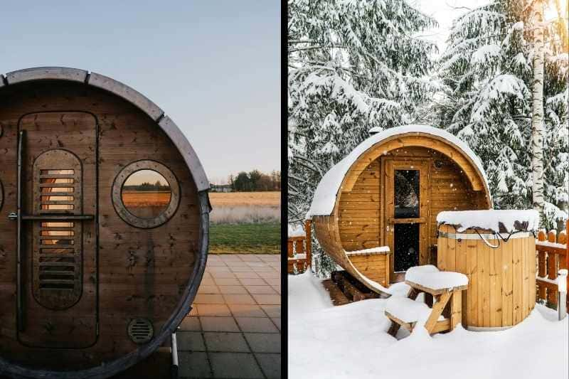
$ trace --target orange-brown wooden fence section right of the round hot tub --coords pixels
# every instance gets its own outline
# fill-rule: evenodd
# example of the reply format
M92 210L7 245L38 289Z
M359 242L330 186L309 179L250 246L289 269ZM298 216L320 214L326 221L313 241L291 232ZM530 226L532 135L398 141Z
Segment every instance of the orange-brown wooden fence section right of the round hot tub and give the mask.
M567 229L569 229L569 221ZM545 300L550 306L555 307L558 303L558 271L569 268L569 244L566 230L560 232L559 235L555 230L550 230L547 234L542 230L538 233L536 241L536 301ZM569 308L569 301L566 306Z

